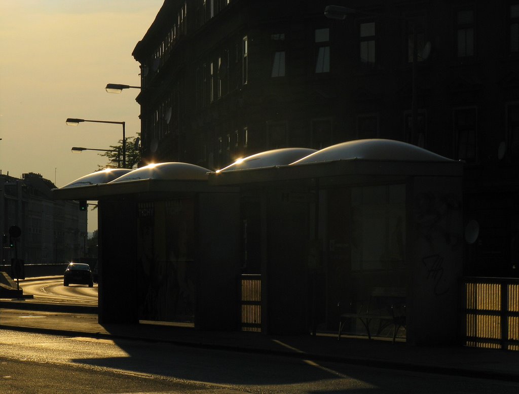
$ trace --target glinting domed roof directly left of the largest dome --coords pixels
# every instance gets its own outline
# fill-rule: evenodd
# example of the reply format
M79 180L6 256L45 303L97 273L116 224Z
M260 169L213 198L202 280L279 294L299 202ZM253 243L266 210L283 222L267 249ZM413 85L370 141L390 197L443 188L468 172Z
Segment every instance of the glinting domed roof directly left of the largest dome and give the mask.
M267 150L265 152L252 154L244 159L238 159L233 164L229 164L227 167L216 172L288 165L293 163L295 160L306 157L314 152L317 152L317 150L310 148L281 148Z

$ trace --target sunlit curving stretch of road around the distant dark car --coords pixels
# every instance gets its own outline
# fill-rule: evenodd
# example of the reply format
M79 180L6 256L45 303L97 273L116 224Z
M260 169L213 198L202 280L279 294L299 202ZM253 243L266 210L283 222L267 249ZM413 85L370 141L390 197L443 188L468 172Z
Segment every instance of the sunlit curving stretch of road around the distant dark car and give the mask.
M76 305L97 306L98 286L86 285L63 286L63 277L49 276L24 279L20 281L23 294L32 294L35 301L69 303Z

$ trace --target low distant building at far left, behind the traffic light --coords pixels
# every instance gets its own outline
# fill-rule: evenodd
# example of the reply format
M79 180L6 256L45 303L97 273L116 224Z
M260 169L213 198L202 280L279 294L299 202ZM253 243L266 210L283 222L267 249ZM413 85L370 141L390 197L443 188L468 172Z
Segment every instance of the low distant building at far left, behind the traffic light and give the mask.
M17 254L26 264L63 263L85 255L87 213L76 201L52 200L53 188L39 174L22 179L0 174L0 231L8 240L9 228L20 227ZM10 264L14 249L2 248L0 257L2 264Z

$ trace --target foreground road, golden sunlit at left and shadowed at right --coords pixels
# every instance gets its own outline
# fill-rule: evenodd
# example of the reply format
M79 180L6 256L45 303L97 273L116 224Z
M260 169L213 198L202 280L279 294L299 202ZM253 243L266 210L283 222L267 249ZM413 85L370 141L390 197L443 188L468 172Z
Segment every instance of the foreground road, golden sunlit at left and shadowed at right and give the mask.
M519 384L149 343L0 330L0 392L514 393Z

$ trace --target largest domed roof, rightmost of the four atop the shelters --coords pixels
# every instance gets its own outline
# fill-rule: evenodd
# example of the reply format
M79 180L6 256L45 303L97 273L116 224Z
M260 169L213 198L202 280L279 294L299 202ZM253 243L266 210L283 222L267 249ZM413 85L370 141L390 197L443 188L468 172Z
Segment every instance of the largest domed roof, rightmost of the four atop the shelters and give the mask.
M337 160L453 161L416 145L392 139L357 139L318 150L291 165Z

